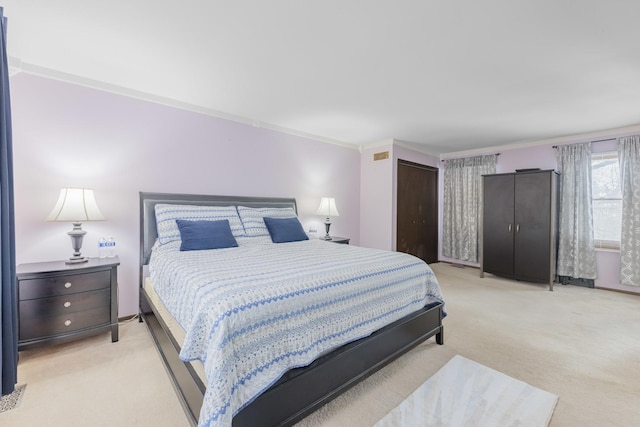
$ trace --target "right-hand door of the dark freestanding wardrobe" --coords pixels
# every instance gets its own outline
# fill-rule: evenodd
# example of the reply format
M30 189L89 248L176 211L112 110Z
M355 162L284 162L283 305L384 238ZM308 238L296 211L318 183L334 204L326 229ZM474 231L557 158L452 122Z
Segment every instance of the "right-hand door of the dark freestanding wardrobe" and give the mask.
M525 280L549 280L552 173L515 175L514 274Z

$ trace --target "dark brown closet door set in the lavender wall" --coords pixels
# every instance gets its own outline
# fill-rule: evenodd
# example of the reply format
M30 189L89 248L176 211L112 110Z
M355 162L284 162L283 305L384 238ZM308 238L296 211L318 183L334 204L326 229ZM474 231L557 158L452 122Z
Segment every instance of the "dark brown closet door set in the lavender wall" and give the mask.
M396 249L438 262L438 169L398 160Z

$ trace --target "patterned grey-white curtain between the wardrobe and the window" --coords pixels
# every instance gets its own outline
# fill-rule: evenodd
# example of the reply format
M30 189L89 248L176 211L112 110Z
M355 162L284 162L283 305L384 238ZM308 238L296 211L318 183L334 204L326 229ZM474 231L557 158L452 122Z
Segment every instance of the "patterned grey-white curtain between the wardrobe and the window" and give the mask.
M591 204L591 143L558 147L560 172L559 276L596 278Z

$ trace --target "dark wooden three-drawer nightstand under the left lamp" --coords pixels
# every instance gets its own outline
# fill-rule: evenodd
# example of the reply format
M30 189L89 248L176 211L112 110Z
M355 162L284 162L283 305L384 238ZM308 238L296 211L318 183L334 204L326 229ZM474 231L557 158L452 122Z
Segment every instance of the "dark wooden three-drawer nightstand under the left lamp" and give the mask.
M18 265L18 350L108 330L118 341L118 265L118 257Z

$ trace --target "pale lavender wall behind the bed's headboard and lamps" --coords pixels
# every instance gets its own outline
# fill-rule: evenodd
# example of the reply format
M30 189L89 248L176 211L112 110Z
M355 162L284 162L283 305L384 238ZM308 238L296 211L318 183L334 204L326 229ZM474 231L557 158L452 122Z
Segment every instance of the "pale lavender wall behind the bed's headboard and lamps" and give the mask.
M336 198L332 234L360 234L360 153L86 87L11 78L18 263L71 255L69 223L44 219L61 187L90 187L107 218L88 222L82 253L112 235L120 256L119 315L137 312L139 191L293 196L306 229L322 196Z

